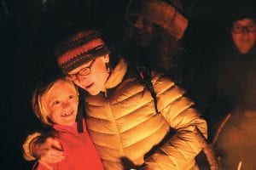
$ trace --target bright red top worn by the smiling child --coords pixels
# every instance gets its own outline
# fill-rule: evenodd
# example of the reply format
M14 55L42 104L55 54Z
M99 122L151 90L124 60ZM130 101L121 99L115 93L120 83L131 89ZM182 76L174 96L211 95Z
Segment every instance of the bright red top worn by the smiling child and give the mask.
M104 169L102 161L85 128L85 122L84 133L78 133L77 123L74 123L71 126L54 125L53 127L56 130L57 137L60 140L65 156L62 161L51 164L54 170ZM34 169L44 170L47 168L37 162Z

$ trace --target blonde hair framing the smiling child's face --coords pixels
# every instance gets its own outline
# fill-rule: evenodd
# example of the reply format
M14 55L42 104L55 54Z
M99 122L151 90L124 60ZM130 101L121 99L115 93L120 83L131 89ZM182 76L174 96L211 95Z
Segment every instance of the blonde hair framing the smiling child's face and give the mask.
M79 98L79 93L73 82L67 80L66 78L56 78L54 81L49 82L47 84L39 84L35 89L32 95L32 109L36 116L43 122L45 125L52 126L53 122L49 119L49 111L47 106L45 105L45 98L51 92L56 82L65 82L69 88L71 88L74 94L77 94Z

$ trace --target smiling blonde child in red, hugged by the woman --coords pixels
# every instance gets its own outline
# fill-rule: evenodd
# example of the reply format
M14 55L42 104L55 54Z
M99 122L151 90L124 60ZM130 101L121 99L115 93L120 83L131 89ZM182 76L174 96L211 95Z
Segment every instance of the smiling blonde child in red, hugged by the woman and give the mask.
M90 140L83 121L84 133L78 133L76 116L78 114L79 94L73 82L64 78L55 79L47 85L40 85L32 97L32 107L38 118L53 128L49 134L57 136L64 150L65 158L52 163L52 169L95 169L102 170L102 162ZM34 169L44 170L38 161Z

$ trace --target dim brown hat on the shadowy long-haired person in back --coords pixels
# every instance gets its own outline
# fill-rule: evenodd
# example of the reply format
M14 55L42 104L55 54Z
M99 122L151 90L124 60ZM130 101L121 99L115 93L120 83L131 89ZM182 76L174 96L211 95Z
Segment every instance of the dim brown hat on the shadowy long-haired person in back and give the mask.
M129 15L142 15L145 19L165 28L177 40L183 37L189 21L171 4L161 0L134 0Z

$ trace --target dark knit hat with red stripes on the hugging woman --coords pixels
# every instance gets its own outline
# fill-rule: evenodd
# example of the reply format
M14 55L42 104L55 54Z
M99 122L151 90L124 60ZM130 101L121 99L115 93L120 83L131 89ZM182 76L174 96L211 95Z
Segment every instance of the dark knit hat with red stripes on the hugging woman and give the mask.
M109 54L109 50L98 31L79 31L61 42L55 50L58 64L64 74L80 65Z

